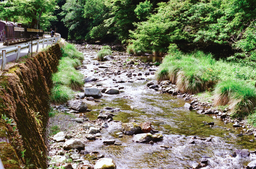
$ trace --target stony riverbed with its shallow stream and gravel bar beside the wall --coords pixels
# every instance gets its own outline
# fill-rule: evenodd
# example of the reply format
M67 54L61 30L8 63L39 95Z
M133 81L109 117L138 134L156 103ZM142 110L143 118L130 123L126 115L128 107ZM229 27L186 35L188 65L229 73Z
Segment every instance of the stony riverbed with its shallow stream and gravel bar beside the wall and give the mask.
M232 127L233 123L225 124L220 119L213 118L214 115L198 114L186 109L184 104L191 100L185 101L146 87L147 82L156 83L155 71L158 67L153 63L161 62L161 57L134 57L124 51L115 51L115 61L102 62L95 59L100 46L87 46L77 45L85 59L78 71L85 78L97 78L97 81L87 82L85 85L99 90L116 88L120 93L102 93L101 98L92 101L84 99L91 111L73 114L71 117L80 116L94 123L100 111L109 112L104 107L120 111L114 112L113 121L107 122L108 127L102 128L101 136L93 141L85 138L88 130L82 127L88 122L76 123L70 115L50 119L50 126L58 124L65 134L82 139L87 152L98 152L101 157L103 154L104 157L113 159L117 169L191 168L193 163L200 163L202 159L208 161L204 169L242 169L256 159L254 136L241 135L243 128ZM131 60L135 64L128 64ZM153 144L133 142L133 136L129 135L119 137L117 133L121 131L121 124L128 122L151 122L152 127L164 137ZM214 122L214 125L206 125L209 122ZM204 138L207 137L211 139L206 141ZM107 139L114 139L121 145L103 144ZM62 145L61 142L50 142L49 155L53 157L52 161L56 161L53 160L54 155L63 150ZM249 155L242 157L236 154L236 150L240 149L247 149L246 151L250 151ZM93 166L97 161L94 153L81 155L78 164Z

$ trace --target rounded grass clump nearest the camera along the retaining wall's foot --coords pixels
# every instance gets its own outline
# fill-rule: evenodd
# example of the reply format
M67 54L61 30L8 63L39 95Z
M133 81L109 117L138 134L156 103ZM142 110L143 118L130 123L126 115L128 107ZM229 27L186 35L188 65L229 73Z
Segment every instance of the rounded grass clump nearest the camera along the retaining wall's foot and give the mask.
M73 91L64 85L55 85L51 89L51 100L54 103L65 103L73 98Z

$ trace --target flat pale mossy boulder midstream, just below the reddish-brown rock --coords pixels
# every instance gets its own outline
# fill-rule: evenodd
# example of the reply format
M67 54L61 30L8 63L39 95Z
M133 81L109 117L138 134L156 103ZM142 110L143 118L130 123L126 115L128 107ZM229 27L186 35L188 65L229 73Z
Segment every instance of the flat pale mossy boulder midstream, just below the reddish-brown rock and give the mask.
M135 142L150 142L150 141L158 141L163 138L162 134L154 134L152 135L151 133L142 133L142 134L136 134L133 138L132 141Z

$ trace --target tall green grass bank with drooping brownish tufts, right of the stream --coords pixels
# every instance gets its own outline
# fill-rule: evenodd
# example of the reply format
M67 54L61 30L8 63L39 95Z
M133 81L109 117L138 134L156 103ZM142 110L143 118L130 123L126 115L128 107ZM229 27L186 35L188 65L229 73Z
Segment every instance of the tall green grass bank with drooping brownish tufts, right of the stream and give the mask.
M184 93L210 91L215 105L228 105L235 117L249 115L256 107L254 67L217 61L200 50L185 54L170 45L156 78L158 82L170 80Z

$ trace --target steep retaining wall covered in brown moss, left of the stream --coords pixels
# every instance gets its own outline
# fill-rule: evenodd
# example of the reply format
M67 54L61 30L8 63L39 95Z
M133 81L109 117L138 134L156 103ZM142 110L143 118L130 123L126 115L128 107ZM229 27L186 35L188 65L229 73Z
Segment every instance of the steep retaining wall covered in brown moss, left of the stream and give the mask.
M25 160L30 159L30 163L37 168L47 168L46 128L50 109L49 89L52 86L50 77L57 71L60 57L60 46L56 44L28 58L25 63L11 67L0 76L0 114L14 119L18 129L18 133L8 135L9 140L12 140L8 145L0 141L0 153L4 154L13 147L10 152L13 152L11 154L15 155L16 160L18 159L17 164L24 164ZM38 123L38 118L42 123ZM1 129L3 127L1 126ZM19 134L22 139L17 138ZM26 149L25 160L21 157L17 140L22 142ZM15 164L15 158L8 160L14 160L9 162ZM2 161L8 163L6 159ZM6 166L5 169L11 166Z

